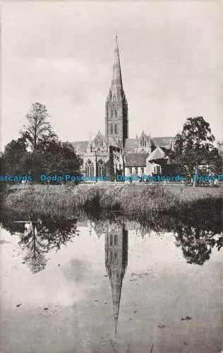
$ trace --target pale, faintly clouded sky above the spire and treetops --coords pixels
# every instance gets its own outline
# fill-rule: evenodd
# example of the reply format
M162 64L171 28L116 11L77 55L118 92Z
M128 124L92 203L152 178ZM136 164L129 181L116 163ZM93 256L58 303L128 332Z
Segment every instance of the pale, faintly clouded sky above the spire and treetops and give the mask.
M32 103L61 140L104 133L115 35L129 137L175 136L203 116L222 139L222 1L5 1L1 5L1 148Z

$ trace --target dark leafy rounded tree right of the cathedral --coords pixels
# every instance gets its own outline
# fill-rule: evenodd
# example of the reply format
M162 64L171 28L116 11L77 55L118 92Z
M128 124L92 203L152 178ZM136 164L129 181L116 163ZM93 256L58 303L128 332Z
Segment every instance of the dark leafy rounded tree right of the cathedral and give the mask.
M210 124L203 116L188 118L183 131L176 135L171 156L176 163L177 172L191 177L200 164L212 163L219 167L219 154L213 146L214 141Z

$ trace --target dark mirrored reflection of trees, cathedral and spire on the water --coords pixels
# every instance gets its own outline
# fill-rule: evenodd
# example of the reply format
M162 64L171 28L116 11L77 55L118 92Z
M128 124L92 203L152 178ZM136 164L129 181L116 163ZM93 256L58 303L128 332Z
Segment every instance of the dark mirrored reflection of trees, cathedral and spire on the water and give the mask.
M216 210L215 210L216 211ZM44 270L47 265L47 253L61 249L68 241L78 235L78 226L87 226L95 230L97 237L105 234L105 268L111 285L111 300L114 315L114 333L117 332L121 289L123 277L128 264L128 230L134 229L142 237L145 234L159 234L172 232L176 239L175 245L181 247L183 257L187 263L203 265L210 259L212 249L222 247L221 215L220 212L210 213L207 217L199 215L185 215L181 217L151 218L147 222L136 222L123 219L117 215L110 215L110 219L91 219L83 217L65 220L64 218L46 219L34 217L30 221L16 221L13 217L3 217L1 224L11 234L18 234L18 245L23 249L24 261L32 273Z

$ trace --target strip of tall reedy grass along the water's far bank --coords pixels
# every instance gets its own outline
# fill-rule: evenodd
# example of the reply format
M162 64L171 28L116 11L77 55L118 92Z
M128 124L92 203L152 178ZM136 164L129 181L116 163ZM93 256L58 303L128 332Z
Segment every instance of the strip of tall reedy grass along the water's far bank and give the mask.
M79 185L29 186L24 190L9 193L4 199L4 211L32 218L41 215L64 215L85 210L98 213L100 210L121 211L134 219L145 218L152 213L186 212L199 207L209 207L213 202L221 207L221 188L185 188L162 185Z

